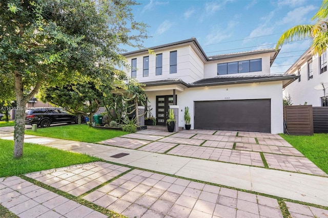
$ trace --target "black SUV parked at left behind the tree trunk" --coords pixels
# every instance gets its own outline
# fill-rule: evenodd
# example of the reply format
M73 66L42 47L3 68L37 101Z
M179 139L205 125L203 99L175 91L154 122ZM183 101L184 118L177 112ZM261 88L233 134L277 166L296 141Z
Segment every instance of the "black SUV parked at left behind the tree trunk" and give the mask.
M81 121L85 121L84 116L81 116ZM78 123L78 116L53 108L30 108L25 111L25 124L49 127L52 123Z

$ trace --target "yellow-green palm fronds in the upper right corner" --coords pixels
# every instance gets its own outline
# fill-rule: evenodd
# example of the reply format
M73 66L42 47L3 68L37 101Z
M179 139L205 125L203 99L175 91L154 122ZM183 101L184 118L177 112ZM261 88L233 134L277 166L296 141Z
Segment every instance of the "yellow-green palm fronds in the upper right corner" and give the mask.
M293 40L312 38L313 53L321 54L328 45L328 0L323 0L319 11L312 20L317 20L314 25L298 25L284 32L276 45L278 50L285 43Z

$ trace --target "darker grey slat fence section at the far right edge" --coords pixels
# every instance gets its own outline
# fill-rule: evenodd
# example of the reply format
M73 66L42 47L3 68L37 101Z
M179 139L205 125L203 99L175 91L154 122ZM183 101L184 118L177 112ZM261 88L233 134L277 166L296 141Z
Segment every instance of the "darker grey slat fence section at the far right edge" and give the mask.
M312 107L314 133L328 133L328 107Z

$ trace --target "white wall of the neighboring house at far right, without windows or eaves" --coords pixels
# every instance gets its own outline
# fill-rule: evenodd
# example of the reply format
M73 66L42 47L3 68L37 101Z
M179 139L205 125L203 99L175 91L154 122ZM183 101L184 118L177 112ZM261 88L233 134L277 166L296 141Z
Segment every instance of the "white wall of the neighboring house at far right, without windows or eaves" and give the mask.
M312 57L313 79L308 80L308 60L310 59L305 60L300 67L301 81L295 80L283 91L284 97L291 96L293 105L303 105L304 102L308 102L307 104L312 104L312 106L321 106L320 98L323 97L323 90L315 90L314 87L320 82L328 82L328 72L320 74L320 56L315 55ZM298 69L292 73L297 75Z

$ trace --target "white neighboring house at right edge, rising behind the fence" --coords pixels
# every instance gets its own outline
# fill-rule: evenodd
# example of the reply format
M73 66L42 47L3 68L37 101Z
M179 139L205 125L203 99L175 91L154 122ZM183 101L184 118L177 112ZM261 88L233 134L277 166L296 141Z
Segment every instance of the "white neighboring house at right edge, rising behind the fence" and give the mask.
M323 89L314 89L315 86L320 88L320 83L328 83L327 52L321 55L313 55L312 52L311 48L308 49L285 72L285 75L295 74L300 77L283 90L283 96L291 96L293 105L303 105L306 102L312 106L328 106L327 98L323 96ZM325 94L328 94L328 89Z

